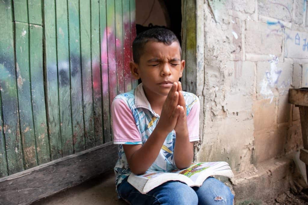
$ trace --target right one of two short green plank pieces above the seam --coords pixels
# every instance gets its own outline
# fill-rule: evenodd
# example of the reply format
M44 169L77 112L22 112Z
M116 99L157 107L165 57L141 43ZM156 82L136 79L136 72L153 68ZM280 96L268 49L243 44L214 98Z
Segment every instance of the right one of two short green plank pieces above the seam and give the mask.
M42 1L28 0L29 23L42 25Z

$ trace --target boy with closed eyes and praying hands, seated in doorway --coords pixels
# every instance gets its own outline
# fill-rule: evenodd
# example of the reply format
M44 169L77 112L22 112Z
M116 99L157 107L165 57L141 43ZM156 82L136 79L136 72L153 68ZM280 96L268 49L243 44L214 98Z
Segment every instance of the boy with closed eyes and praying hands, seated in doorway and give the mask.
M229 188L213 177L201 187L169 181L147 194L127 182L131 172L187 168L193 143L199 140L200 103L196 95L182 91L179 78L185 61L175 34L163 28L144 31L133 42L133 59L131 73L142 83L111 105L120 198L131 204L232 204Z

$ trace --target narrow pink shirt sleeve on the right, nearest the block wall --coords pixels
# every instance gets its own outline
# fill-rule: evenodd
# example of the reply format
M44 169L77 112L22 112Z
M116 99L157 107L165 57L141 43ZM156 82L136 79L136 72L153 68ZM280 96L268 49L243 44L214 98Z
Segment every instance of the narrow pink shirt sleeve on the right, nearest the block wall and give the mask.
M199 113L200 113L200 102L197 101L187 116L187 127L189 141L198 141L199 138Z

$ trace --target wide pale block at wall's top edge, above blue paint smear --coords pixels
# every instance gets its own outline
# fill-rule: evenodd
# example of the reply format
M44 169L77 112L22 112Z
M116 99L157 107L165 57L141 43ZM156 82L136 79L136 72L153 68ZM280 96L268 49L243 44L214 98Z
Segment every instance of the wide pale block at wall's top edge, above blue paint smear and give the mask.
M258 14L291 22L292 4L293 0L258 0Z

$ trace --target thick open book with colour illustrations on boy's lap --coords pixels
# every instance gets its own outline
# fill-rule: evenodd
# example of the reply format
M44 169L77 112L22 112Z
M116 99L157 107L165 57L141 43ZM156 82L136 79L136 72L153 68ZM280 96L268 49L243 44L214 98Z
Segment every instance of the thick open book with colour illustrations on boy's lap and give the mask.
M138 191L146 194L148 191L167 181L181 181L190 187L200 187L203 181L212 175L222 175L232 178L233 172L227 162L201 162L192 163L186 169L175 169L171 172L146 171L143 175L131 173L127 181Z

